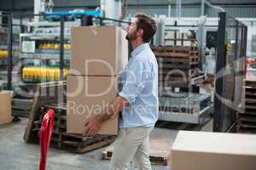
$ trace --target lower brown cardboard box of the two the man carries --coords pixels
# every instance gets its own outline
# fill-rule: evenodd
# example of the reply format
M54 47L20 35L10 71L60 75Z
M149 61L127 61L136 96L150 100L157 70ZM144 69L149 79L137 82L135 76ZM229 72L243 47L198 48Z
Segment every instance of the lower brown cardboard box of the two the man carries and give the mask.
M86 117L104 111L117 96L117 79L67 76L67 133L84 133ZM118 116L104 122L97 133L116 135Z

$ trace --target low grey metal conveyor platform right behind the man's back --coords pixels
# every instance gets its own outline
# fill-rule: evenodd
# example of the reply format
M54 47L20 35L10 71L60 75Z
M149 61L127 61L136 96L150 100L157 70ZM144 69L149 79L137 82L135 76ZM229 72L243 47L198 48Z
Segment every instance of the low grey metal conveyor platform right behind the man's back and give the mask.
M177 95L176 99L174 95ZM172 98L160 98L160 106L167 111L160 111L159 120L203 124L212 113L209 94L173 94Z

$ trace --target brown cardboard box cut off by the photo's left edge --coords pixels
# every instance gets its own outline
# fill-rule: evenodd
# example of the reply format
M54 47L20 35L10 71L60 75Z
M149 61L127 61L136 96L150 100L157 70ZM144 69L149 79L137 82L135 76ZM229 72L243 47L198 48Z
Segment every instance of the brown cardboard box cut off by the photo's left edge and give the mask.
M12 91L0 92L0 125L12 122Z

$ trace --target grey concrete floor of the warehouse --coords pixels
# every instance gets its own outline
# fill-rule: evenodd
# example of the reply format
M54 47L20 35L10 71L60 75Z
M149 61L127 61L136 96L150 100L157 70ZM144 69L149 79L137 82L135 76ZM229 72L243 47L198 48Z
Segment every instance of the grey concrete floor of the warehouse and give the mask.
M0 126L0 170L37 170L40 157L38 144L26 144L23 133L27 119L21 118L20 122ZM170 126L168 124L172 124ZM151 139L167 139L170 144L174 141L181 123L165 122L161 128L155 127ZM205 129L204 129L205 128ZM202 130L211 131L212 122L208 122ZM66 150L49 148L47 170L108 170L109 161L102 161L102 148L85 154L74 154ZM170 169L169 166L153 166L154 170Z

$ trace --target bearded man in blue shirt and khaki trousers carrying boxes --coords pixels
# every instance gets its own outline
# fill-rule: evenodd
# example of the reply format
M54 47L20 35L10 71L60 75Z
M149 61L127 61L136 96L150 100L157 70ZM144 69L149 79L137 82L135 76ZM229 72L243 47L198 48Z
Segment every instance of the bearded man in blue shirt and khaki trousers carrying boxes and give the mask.
M127 27L126 39L133 51L122 73L123 87L102 115L90 117L85 132L95 135L108 120L122 110L119 136L116 140L110 170L126 170L133 158L142 170L151 170L149 134L158 119L158 65L148 42L156 25L146 14L135 14Z

